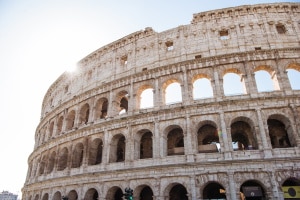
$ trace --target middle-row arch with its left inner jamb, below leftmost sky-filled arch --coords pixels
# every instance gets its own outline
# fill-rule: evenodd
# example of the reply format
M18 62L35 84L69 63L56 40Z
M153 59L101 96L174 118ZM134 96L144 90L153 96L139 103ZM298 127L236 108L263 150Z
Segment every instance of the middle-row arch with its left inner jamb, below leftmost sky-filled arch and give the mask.
M152 141L152 132L144 129L138 132L140 135L139 141L139 158L152 158L153 157L153 141Z

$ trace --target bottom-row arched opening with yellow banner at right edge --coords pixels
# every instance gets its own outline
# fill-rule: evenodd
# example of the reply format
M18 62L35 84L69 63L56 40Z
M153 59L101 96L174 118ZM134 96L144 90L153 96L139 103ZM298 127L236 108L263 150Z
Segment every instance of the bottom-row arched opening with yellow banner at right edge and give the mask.
M300 180L291 177L283 182L282 192L284 200L300 199Z

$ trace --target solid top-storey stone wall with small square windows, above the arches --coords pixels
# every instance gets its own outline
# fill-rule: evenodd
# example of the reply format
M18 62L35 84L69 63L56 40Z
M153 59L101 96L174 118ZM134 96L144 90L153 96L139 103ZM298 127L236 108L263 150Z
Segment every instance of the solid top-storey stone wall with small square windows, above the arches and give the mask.
M191 24L160 33L152 28L132 33L83 58L77 72L59 77L44 97L42 117L74 96L96 87L106 91L113 82L149 69L195 58L299 47L299 13L299 3L246 5L197 13Z

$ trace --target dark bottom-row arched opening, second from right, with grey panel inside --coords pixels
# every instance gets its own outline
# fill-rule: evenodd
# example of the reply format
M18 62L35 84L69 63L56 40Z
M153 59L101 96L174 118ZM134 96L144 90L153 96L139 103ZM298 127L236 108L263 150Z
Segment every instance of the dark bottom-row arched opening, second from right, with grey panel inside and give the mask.
M263 187L254 180L244 182L240 187L241 200L267 199Z

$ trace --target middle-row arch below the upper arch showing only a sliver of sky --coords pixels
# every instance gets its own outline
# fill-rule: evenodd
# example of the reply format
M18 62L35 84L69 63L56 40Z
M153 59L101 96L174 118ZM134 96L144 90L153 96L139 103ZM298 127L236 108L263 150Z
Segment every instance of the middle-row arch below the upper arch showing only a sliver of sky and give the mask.
M110 144L110 162L123 162L125 160L125 136L115 135Z

